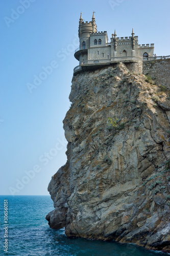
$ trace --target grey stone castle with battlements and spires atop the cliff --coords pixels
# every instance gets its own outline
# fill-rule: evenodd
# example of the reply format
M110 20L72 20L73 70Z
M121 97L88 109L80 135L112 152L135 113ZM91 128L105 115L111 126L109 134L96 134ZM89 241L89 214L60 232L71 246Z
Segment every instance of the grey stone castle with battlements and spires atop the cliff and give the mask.
M82 13L79 20L80 47L75 51L79 66L74 75L83 71L111 65L117 62L141 62L153 57L154 44L138 45L138 36L132 29L132 36L117 37L116 31L108 42L107 31L98 32L94 12L91 22L84 22Z

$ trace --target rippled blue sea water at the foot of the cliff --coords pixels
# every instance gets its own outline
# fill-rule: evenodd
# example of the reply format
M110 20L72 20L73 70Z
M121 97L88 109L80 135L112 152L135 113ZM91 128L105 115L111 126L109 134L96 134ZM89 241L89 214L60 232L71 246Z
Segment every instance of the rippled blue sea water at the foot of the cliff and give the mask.
M8 199L8 253L4 251L4 200ZM168 255L133 244L69 239L64 229L48 226L45 216L53 210L50 196L0 196L0 255L18 256L149 256Z

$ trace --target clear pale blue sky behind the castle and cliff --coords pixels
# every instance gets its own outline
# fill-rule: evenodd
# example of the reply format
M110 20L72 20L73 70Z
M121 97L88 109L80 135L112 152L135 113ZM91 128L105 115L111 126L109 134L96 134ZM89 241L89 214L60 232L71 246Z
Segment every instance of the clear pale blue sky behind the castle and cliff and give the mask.
M78 66L80 12L89 22L94 10L98 31L109 38L114 29L131 36L134 27L139 44L169 55L170 1L6 0L0 8L0 194L48 195L51 176L66 162L62 120Z

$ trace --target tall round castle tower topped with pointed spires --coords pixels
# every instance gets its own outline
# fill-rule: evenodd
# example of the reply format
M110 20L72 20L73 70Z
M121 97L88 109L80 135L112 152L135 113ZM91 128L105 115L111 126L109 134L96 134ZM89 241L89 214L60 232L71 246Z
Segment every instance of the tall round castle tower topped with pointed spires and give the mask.
M94 33L98 32L97 26L95 24L94 12L92 15L92 20L89 23L83 21L82 13L81 13L80 20L79 20L80 46L79 46L79 49L77 49L75 52L75 58L80 62L82 60L87 59L88 48L90 47L90 33L92 32Z

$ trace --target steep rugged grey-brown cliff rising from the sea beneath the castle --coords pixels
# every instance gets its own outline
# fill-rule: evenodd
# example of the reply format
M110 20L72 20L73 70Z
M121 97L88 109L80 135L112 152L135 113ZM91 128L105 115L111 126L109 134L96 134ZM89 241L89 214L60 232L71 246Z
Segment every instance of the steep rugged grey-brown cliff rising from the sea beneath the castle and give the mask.
M73 77L69 99L50 226L170 251L169 90L120 63Z

